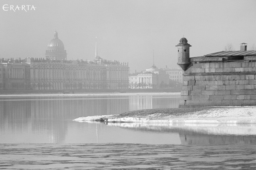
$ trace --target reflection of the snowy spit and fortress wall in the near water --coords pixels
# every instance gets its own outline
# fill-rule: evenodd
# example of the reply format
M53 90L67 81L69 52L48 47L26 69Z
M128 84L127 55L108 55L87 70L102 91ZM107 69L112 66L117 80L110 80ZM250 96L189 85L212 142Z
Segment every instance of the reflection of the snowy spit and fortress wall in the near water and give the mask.
M223 145L256 144L256 124L241 125L189 125L189 124L149 124L149 123L108 123L134 131L156 133L178 133L181 144ZM170 141L170 144L172 142Z

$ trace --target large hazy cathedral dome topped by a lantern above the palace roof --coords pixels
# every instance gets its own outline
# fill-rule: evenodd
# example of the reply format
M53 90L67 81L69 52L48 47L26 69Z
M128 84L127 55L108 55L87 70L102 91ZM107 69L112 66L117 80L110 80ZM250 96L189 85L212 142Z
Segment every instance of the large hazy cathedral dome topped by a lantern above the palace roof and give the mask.
M67 52L64 50L63 42L58 38L58 32L55 30L54 38L48 43L48 49L45 53L46 59L67 60Z

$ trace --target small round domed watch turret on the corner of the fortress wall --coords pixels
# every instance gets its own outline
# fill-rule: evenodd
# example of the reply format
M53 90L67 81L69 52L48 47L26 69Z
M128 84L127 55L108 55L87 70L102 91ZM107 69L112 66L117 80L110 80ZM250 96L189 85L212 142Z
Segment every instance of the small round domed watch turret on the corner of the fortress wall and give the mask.
M190 64L189 60L189 47L191 45L188 43L188 40L186 38L181 38L180 43L176 45L178 47L178 62L177 64L184 70L188 68Z

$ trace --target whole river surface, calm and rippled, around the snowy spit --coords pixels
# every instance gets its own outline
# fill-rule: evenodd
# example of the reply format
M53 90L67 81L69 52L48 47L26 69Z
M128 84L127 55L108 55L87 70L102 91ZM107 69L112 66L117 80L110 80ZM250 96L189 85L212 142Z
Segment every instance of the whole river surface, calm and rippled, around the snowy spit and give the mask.
M177 108L175 94L0 96L0 169L255 169L255 125L76 122Z

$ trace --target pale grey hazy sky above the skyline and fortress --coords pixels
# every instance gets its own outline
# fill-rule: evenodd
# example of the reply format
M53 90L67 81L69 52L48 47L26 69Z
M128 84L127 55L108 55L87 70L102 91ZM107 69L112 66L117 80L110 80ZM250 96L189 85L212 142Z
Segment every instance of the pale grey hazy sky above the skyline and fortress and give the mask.
M35 11L4 11L3 5ZM55 28L67 59L129 62L130 72L153 65L177 68L186 37L190 57L256 45L255 0L1 0L0 57L44 57Z

